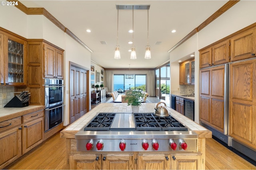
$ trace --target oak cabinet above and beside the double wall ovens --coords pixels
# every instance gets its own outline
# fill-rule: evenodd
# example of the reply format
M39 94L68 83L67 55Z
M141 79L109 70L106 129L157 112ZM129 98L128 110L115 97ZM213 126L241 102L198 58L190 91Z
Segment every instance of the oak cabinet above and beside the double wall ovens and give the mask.
M63 51L43 39L28 39L30 105L45 105L44 78L63 78Z

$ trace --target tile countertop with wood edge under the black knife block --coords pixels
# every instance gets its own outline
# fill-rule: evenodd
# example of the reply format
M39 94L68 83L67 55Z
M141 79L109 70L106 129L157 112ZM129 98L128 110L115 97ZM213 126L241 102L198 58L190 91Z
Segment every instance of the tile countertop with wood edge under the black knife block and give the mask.
M3 107L0 108L0 122L42 110L44 108L45 106Z

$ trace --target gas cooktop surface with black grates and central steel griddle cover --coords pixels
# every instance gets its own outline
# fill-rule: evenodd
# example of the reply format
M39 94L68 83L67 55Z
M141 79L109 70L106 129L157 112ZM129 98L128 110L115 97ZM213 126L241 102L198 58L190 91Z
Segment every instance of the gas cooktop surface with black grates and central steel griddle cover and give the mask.
M98 113L84 131L188 131L184 125L154 113Z

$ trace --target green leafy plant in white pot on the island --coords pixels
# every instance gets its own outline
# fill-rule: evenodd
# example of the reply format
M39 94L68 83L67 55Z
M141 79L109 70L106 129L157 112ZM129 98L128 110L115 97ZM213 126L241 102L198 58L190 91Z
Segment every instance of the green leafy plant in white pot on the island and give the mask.
M127 105L132 107L132 112L138 112L139 107L141 106L141 102L143 102L143 98L145 94L142 94L136 90L130 90L126 93L125 101L128 100Z

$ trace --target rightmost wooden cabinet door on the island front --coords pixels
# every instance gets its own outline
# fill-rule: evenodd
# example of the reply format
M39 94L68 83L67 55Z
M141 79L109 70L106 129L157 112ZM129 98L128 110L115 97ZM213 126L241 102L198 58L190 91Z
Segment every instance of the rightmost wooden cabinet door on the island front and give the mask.
M170 162L172 170L198 170L202 167L202 154L171 154Z

